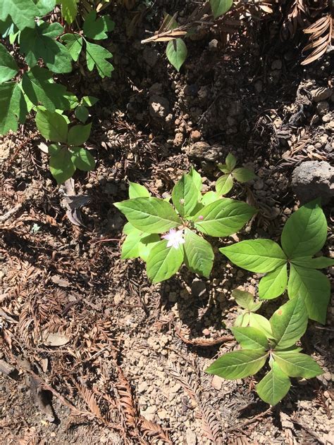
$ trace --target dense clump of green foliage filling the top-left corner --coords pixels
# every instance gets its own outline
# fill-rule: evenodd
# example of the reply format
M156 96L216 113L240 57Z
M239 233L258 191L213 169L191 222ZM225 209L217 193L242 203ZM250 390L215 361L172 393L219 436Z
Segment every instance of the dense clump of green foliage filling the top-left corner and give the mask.
M66 25L63 20L62 24L49 22L56 4L61 4ZM42 135L52 142L68 143L65 127L69 121L64 112L70 116L74 113L80 122L86 122L89 117L87 107L94 105L97 99L92 96L78 99L58 82L58 75L70 73L73 62L80 59L82 74L84 64L89 71L96 68L101 77L110 76L113 65L108 59L112 54L94 42L106 39L114 23L107 15L97 17L93 10L85 16L80 30L78 23L81 20L77 19L73 25L77 12L76 0L0 1L0 134L10 130L16 132L19 123L25 123L31 111L39 116L36 122L39 131L43 127ZM44 113L40 113L41 110ZM71 128L69 137L75 131L78 130ZM76 167L87 169L90 165L90 169L94 165L90 155L84 154L83 149L75 151L76 148L71 149L75 153L74 163L70 161L74 158L70 158L68 151L61 149L61 156L60 151L57 154L51 146L50 162L56 164L51 173L54 175L60 165L63 172L55 176L58 182L67 179ZM65 165L66 162L69 164Z

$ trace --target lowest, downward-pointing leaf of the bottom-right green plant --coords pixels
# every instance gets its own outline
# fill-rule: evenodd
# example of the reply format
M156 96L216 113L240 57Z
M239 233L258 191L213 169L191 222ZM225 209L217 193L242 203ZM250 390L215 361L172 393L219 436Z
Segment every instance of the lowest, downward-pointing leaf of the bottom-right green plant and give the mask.
M280 370L277 363L273 362L273 368L264 378L256 384L256 392L261 399L275 406L279 401L287 395L291 386L289 377Z

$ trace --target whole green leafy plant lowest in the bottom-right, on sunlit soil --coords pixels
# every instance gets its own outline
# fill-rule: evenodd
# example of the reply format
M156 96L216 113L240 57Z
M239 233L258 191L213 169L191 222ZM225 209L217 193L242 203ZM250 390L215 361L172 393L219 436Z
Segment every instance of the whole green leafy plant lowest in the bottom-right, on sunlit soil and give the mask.
M250 297L244 296L244 306L253 303ZM233 327L241 349L225 353L206 372L228 380L242 379L255 375L268 361L268 372L256 385L256 391L263 401L276 405L289 391L290 377L311 378L323 373L316 361L295 345L306 331L307 321L304 299L296 296L267 320L270 334L256 323Z

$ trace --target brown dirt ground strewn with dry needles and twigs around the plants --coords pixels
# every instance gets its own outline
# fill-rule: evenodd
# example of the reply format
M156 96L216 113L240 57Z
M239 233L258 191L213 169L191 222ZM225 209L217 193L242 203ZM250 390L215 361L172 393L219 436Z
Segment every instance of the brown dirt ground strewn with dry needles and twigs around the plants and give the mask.
M293 168L333 161L334 96L319 96L331 85L329 56L302 68L295 43L271 40L265 26L225 47L208 31L189 42L179 74L162 45L140 44L159 27L160 3L155 15L118 11L110 80L73 74L78 94L101 98L89 140L97 169L72 184L80 210L68 211L29 123L0 140L0 364L10 368L0 373L1 444L334 444L333 306L303 339L326 372L294 380L268 408L254 378L204 373L235 347L231 291L256 294L259 277L217 255L211 280L180 270L151 285L143 263L120 260L124 220L112 205L128 180L171 192L190 165L213 189L231 151L259 176L231 194L259 208L237 237L278 239L298 206ZM330 204L324 211L333 255Z

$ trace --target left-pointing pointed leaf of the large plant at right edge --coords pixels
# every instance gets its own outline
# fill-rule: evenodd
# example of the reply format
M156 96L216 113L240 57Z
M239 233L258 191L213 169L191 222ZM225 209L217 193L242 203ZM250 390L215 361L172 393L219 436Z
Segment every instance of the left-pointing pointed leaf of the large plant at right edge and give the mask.
M271 272L287 261L283 250L271 239L249 239L219 250L237 266L251 272Z

